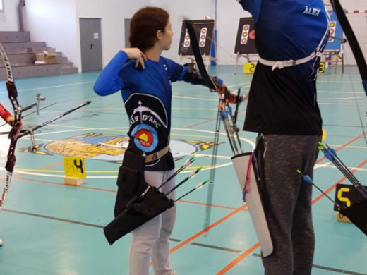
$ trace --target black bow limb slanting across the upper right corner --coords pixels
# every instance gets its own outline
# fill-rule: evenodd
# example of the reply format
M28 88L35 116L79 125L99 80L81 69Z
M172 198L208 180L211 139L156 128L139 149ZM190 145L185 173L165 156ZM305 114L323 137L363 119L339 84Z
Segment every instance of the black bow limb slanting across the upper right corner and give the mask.
M344 13L342 5L340 4L339 0L330 0L332 4L332 8L334 9L337 18L339 20L342 29L344 30L345 36L348 39L349 45L351 47L351 51L353 52L354 58L356 59L356 63L359 69L359 73L361 74L362 78L362 85L363 89L367 95L367 64L366 59L363 56L362 49L356 39L356 35L351 28L349 20Z

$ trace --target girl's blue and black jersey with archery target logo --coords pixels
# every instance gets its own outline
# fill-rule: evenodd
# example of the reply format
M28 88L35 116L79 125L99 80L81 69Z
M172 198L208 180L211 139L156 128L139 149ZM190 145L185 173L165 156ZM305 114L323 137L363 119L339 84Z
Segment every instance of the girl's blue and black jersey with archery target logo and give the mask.
M198 71L162 56L159 61L145 61L143 70L135 68L135 64L135 60L128 60L126 52L119 51L100 73L94 90L101 96L121 91L129 118L129 146L148 155L169 145L172 82L205 83ZM222 80L217 78L217 82ZM170 152L146 166L151 171L173 168Z

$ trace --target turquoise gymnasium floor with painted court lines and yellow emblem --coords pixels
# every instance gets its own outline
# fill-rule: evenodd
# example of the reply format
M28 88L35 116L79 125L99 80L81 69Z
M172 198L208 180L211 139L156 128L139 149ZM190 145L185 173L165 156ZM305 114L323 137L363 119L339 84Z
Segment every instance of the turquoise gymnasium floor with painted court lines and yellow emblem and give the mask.
M251 75L233 74L232 66L220 66L219 75L231 87L248 90ZM240 71L240 69L239 69ZM333 74L329 68L318 78L318 102L327 133L325 142L338 149L341 159L361 183L367 184L367 147L361 120L367 128L367 98L356 68ZM113 218L116 196L117 161L121 149L96 147L97 142L124 140L128 119L121 95L98 97L92 86L98 73L78 73L16 80L18 100L32 104L35 94L56 102L40 115L24 118L25 127L47 121L86 100L85 106L37 131L37 153L30 152L30 138L18 140L16 169L11 188L0 214L1 275L100 275L127 274L131 235L109 246L102 228ZM177 190L177 195L209 178L217 97L205 87L174 83L172 103L172 152L176 167L198 154L192 169L203 171ZM0 102L11 109L5 82L0 82ZM242 127L246 104L242 104ZM5 131L8 126L1 127ZM172 235L171 261L177 275L263 274L260 248L251 219L241 201L239 183L231 166L231 149L221 128L210 231L203 233L207 186L177 202L178 216ZM245 151L252 148L254 133L241 131ZM1 135L1 190L8 150ZM63 157L85 157L87 179L83 185L64 185ZM331 197L336 183L347 183L342 173L320 154L314 181ZM180 173L176 182L188 176ZM367 238L352 224L336 221L333 205L318 190L313 191L313 221L316 247L313 275L367 274Z

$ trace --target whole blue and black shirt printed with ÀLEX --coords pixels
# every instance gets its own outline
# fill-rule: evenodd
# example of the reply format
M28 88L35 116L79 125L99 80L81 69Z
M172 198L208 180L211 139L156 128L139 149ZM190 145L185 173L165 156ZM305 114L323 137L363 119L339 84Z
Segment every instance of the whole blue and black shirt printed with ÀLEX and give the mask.
M320 135L316 102L317 54L328 35L322 0L241 0L255 20L258 54L267 63L306 59L285 68L261 62L255 68L243 130L284 135ZM310 59L307 59L310 57ZM313 57L312 57L313 56Z

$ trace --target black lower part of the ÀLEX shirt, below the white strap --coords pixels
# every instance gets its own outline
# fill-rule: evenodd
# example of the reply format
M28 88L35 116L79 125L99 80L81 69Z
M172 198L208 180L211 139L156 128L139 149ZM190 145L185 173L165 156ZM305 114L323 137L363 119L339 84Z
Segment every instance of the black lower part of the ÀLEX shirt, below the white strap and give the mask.
M258 63L248 97L243 130L279 135L321 135L316 101L315 59L276 68Z

